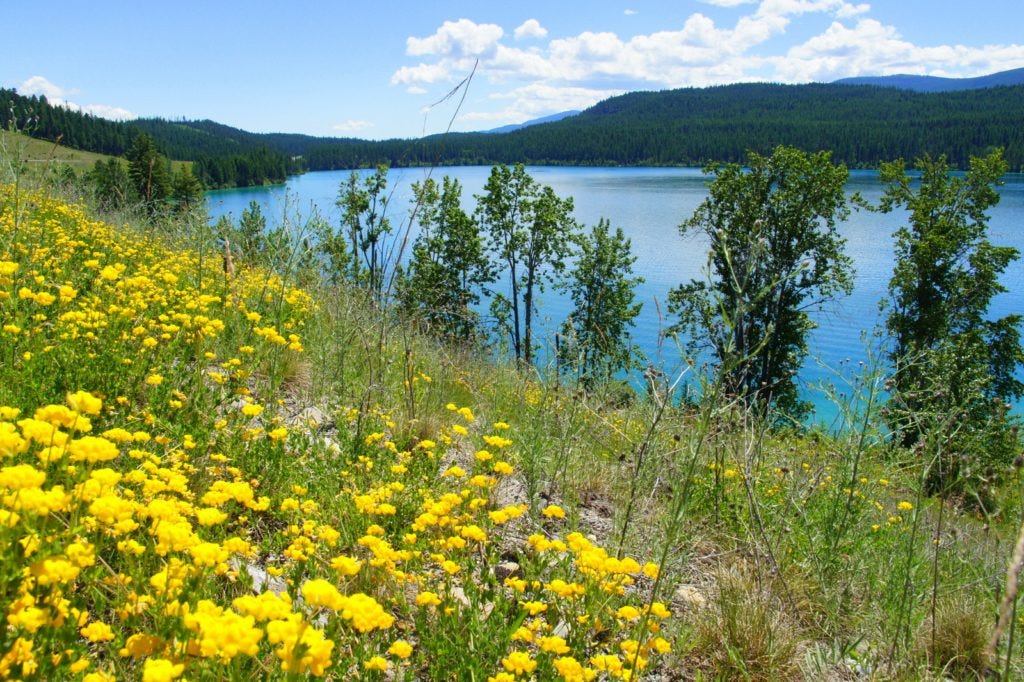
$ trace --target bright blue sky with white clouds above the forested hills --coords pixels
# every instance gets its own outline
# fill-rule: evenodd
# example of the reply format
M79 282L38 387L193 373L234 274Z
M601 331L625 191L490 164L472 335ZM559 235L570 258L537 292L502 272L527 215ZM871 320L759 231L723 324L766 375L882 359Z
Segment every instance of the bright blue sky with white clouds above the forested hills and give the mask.
M636 90L1024 67L1020 0L0 6L0 87L106 118L369 139L486 130Z

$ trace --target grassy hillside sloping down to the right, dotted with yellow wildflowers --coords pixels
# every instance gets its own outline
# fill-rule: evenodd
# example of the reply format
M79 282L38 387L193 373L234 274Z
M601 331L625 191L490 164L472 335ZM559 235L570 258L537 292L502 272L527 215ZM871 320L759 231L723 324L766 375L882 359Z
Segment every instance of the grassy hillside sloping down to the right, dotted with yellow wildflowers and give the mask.
M842 433L674 406L686 367L584 394L189 224L0 188L0 675L1024 673L985 650L1019 479L925 497L884 377Z

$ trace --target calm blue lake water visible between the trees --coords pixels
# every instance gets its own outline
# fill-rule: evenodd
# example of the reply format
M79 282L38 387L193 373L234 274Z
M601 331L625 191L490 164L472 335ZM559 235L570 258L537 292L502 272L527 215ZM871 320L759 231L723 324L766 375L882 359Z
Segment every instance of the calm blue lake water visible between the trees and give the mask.
M634 270L645 279L637 290L637 300L644 305L634 339L648 358L667 373L680 371L678 350L669 341L663 343L659 332L673 322L667 317L665 308L668 291L691 279L701 279L705 273L707 242L697 237L681 237L678 225L708 196L708 177L695 168L538 166L526 170L559 197L572 197L574 216L582 224L589 227L600 218L607 218L612 228L622 227L632 240L637 257ZM410 185L428 174L438 181L444 175L458 179L465 208L472 212L473 195L482 193L489 173L490 168L485 166L392 169L388 176L388 187L394 189L388 211L392 224L404 226L412 198ZM291 224L301 224L304 217L318 211L332 224L339 224L340 212L335 201L339 185L348 176L349 171L321 171L290 178L285 185L210 191L207 205L212 221L227 214L238 219L249 202L255 200L271 223L280 222L287 213ZM847 190L877 203L882 185L874 171L851 171ZM1008 175L999 194L999 204L989 213L989 239L993 244L1014 246L1024 252L1024 175ZM819 420L831 420L836 409L816 386L838 381L838 373L857 372L860 364L868 359L865 337L882 321L879 302L887 294L892 274L892 235L904 217L895 212L882 215L854 211L840 225L856 269L855 288L850 296L815 314L818 328L811 334L810 356L799 377L804 396L814 403ZM1011 264L1002 284L1010 291L993 302L993 316L1021 311L1024 262ZM541 297L539 307L550 341L550 331L561 324L569 302L549 291Z

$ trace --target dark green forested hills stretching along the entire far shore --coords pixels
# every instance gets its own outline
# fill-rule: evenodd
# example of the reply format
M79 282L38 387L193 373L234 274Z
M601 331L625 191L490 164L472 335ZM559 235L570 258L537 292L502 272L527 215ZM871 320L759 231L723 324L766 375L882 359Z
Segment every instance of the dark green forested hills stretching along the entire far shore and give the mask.
M369 141L251 133L213 121L113 122L0 89L0 123L32 120L33 136L123 155L140 131L171 159L194 161L207 187L279 182L286 174L457 164L686 165L740 162L778 144L830 150L851 167L946 155L964 168L1001 146L1024 169L1024 85L915 92L843 84L737 84L611 97L569 118L511 132Z

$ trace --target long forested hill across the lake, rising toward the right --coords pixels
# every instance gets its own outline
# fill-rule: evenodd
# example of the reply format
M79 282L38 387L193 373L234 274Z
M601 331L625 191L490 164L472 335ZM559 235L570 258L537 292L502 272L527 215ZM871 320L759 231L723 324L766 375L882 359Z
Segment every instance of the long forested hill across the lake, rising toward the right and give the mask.
M972 155L1001 146L1024 166L1024 86L923 93L836 84L738 84L605 99L571 118L501 134L461 133L420 140L322 145L310 170L391 165L524 162L568 165L702 165L742 161L778 144L831 150L837 161Z

